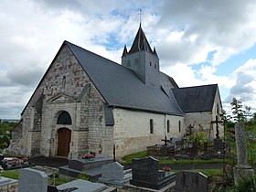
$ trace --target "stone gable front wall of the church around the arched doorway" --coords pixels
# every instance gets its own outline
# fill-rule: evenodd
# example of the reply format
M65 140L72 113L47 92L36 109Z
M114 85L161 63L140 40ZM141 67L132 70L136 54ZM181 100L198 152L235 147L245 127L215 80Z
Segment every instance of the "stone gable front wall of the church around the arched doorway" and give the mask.
M82 101L77 102L86 84L90 84L90 89L83 95ZM89 148L100 150L104 127L103 99L67 46L60 49L37 91L43 92L42 104L35 105L35 108L28 103L23 112L22 136L16 141L21 155L32 155L32 146L38 146L38 137L41 155L57 155L60 128L57 120L60 112L64 111L69 112L72 120L72 125L68 126L71 130L71 157L84 154ZM39 123L34 121L38 117L42 117ZM35 128L39 132L28 133L28 130Z

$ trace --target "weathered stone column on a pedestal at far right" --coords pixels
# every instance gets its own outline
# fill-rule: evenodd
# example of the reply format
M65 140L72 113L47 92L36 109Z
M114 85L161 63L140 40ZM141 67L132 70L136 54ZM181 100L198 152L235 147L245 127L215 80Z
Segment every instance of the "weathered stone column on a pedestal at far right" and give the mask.
M254 175L254 171L247 161L247 150L244 125L242 123L235 124L236 145L238 164L234 167L235 185L238 185L240 179L248 178Z

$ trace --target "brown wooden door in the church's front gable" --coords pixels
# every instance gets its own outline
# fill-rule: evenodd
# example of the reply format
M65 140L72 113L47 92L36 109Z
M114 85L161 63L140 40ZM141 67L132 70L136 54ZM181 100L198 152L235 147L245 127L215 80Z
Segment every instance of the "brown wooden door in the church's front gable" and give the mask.
M71 131L67 128L60 128L58 131L58 156L68 157Z

